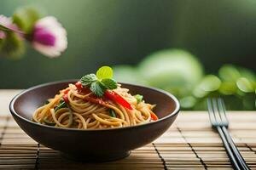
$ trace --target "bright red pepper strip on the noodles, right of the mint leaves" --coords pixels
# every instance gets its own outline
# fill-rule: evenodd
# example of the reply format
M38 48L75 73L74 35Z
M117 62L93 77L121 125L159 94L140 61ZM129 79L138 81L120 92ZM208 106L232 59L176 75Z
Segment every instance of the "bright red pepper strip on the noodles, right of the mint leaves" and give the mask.
M106 90L105 96L108 99L111 99L114 102L118 103L119 105L124 106L126 109L132 110L131 105L122 96L120 96L118 93L116 93L114 91Z

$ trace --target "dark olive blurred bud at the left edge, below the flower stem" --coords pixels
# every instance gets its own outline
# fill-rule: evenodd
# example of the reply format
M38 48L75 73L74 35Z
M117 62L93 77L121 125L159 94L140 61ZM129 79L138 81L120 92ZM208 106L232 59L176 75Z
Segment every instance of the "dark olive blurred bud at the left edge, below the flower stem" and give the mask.
M6 32L6 38L1 41L0 52L11 59L19 59L25 52L24 42L14 32Z

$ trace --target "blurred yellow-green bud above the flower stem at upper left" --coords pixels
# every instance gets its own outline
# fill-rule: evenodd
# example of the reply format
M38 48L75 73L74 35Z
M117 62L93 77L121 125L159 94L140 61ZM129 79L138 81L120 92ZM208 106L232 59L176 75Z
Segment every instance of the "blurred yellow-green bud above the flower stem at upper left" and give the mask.
M31 33L35 22L39 19L40 14L35 8L18 8L13 15L13 22L26 33Z

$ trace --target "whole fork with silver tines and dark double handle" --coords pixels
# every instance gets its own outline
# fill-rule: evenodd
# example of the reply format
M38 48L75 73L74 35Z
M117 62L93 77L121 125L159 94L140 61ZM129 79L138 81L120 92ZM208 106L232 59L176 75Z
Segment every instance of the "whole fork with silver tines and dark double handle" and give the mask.
M244 161L239 150L236 147L233 139L230 136L227 128L229 127L229 120L226 116L226 110L224 106L224 100L221 98L208 98L207 99L209 118L212 123L212 127L218 130L218 134L221 137L225 150L230 157L232 166L235 169L250 169Z

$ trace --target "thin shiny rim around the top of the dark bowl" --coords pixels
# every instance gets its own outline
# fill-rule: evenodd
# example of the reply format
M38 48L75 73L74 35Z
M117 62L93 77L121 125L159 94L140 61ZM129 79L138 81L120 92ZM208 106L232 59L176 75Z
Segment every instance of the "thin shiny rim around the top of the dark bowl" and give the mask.
M10 103L9 103L9 111L11 112L12 116L16 116L18 117L19 119L21 119L22 121L25 121L27 123L31 123L35 126L38 126L38 127L48 127L48 128L52 128L52 129L55 129L55 130L64 130L64 131L74 131L74 132L103 132L103 131L116 131L116 130L122 130L122 129L130 129L130 128L137 128L137 127L145 127L145 126L148 126L148 125L153 125L153 124L156 124L156 123L160 123L160 122L163 122L165 121L166 119L172 117L172 116L175 116L178 114L178 112L180 111L180 104L177 100L177 98L173 95L173 94L170 94L168 92L166 92L165 90L162 90L160 88L152 88L152 87L146 87L146 86L143 86L143 85L137 85L137 84L131 84L131 83L126 83L126 82L119 82L120 84L125 84L125 85L131 85L131 86L137 86L138 88L148 88L150 90L154 90L154 91L157 91L157 92L160 92L162 94L166 94L167 96L169 96L170 98L173 99L174 103L176 104L176 108L174 111L172 111L172 113L170 113L169 115L167 116L164 116L162 118L160 118L159 120L157 121L154 121L154 122L147 122L147 123L143 123L143 124L138 124L138 125L135 125L135 126L130 126L130 127L116 127L116 128L103 128L103 129L77 129L77 128L70 128L70 127L52 127L52 126L48 126L48 125L44 125L44 124L40 124L38 122L32 122L31 120L29 119L26 119L25 117L23 116L20 116L16 111L15 111L15 108L14 108L14 105L15 105L15 101L23 94L26 94L27 92L33 90L33 89L36 89L36 88L42 88L42 87L45 87L45 86L49 86L49 85L54 85L54 84L58 84L58 83L65 83L65 82L77 82L78 79L67 79L67 80L61 80L61 81L54 81L54 82L45 82L45 83L42 83L42 84L38 84L36 86L33 86L31 88L27 88L23 91L21 91L19 94L16 94L15 97L13 99L11 99Z

